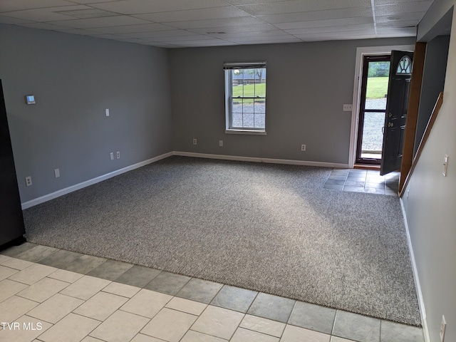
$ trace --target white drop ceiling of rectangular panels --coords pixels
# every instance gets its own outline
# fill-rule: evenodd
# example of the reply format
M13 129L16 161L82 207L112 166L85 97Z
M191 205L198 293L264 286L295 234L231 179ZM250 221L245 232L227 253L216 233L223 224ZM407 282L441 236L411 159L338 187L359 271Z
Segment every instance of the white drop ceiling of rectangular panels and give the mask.
M415 36L432 1L0 0L0 23L162 48Z

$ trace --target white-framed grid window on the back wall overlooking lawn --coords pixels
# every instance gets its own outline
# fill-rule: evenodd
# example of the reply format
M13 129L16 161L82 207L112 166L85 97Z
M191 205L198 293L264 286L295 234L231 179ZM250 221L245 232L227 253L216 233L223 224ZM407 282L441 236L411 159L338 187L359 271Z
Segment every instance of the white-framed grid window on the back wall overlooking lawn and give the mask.
M266 134L266 63L224 63L227 133Z

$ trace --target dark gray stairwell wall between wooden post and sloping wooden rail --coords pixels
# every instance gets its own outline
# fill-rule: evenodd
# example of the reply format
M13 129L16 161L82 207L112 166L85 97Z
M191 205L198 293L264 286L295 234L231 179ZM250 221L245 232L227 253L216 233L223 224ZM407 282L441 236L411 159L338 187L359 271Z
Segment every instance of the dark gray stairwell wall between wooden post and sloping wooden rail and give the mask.
M415 153L425 133L435 101L445 84L447 71L448 46L450 36L437 36L427 42L423 83L421 86L420 109L415 136Z

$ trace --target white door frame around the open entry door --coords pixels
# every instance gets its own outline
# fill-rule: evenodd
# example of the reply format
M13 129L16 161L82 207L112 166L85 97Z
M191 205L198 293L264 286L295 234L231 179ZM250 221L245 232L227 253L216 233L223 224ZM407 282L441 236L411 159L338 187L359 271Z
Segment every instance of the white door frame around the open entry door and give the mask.
M363 57L366 55L383 55L391 50L414 51L413 45L393 46L366 46L356 48L355 82L353 86L353 108L351 111L350 152L348 153L348 167L353 169L356 160L356 140L358 140L358 113L361 96L361 81L363 78Z

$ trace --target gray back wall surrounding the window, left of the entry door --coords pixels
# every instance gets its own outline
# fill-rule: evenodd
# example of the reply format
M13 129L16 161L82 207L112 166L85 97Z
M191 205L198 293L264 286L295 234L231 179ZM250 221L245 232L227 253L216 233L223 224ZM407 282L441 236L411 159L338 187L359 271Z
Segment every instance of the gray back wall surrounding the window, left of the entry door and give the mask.
M348 164L351 112L342 106L353 100L356 48L414 43L396 38L172 50L174 150ZM224 133L222 67L234 61L267 62L267 135Z

